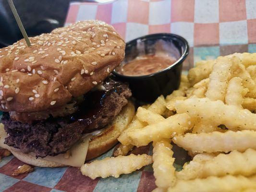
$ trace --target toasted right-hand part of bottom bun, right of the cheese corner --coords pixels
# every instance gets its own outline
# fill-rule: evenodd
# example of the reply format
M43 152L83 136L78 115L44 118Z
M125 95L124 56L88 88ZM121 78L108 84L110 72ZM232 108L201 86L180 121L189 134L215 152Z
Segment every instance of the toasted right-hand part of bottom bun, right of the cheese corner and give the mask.
M129 101L128 104L122 108L119 115L116 116L115 120L110 123L110 125L108 125L102 132L91 138L86 160L100 156L117 144L117 138L133 120L134 114L134 104Z

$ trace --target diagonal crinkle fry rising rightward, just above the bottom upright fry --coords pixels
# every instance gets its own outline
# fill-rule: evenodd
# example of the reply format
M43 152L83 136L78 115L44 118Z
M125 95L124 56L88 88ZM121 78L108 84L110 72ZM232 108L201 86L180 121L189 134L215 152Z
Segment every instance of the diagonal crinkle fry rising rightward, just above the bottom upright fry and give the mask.
M190 130L193 125L194 122L189 115L176 114L143 129L127 132L127 136L131 144L137 147L145 146L151 141L159 141L162 138L172 138L175 134L182 134Z

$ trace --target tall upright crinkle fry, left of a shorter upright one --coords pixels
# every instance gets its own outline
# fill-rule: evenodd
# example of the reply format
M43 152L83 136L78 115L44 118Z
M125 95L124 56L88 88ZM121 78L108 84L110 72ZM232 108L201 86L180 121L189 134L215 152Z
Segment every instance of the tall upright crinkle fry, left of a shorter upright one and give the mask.
M212 101L224 100L227 84L231 78L232 60L218 57L209 76L209 84L206 96Z

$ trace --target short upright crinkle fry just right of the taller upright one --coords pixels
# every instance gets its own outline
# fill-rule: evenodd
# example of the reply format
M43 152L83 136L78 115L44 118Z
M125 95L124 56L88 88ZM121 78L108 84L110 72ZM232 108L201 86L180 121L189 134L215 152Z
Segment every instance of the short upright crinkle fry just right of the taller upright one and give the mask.
M242 84L242 79L240 77L233 77L227 88L227 94L225 96L225 102L227 105L234 105L237 106L238 108L243 108L242 103L244 100L244 96L248 92L244 91L244 86Z

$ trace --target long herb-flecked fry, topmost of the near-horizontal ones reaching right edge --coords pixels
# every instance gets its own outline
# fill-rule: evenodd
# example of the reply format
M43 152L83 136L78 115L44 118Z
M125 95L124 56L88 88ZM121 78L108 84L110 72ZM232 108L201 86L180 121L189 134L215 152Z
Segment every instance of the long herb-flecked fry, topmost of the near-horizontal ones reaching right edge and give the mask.
M221 101L191 97L175 103L177 113L187 113L193 118L210 120L216 126L226 125L228 129L256 130L256 114L247 109L225 105Z

